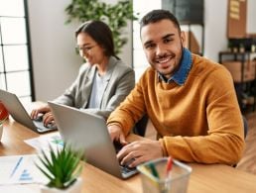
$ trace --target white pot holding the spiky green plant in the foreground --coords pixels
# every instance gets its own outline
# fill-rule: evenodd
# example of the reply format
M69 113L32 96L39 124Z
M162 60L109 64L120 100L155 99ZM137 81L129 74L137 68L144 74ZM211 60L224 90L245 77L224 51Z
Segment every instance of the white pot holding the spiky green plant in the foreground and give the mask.
M41 186L41 193L80 193L82 189L82 179L77 180L67 189L61 190L57 188L50 188L48 186Z

